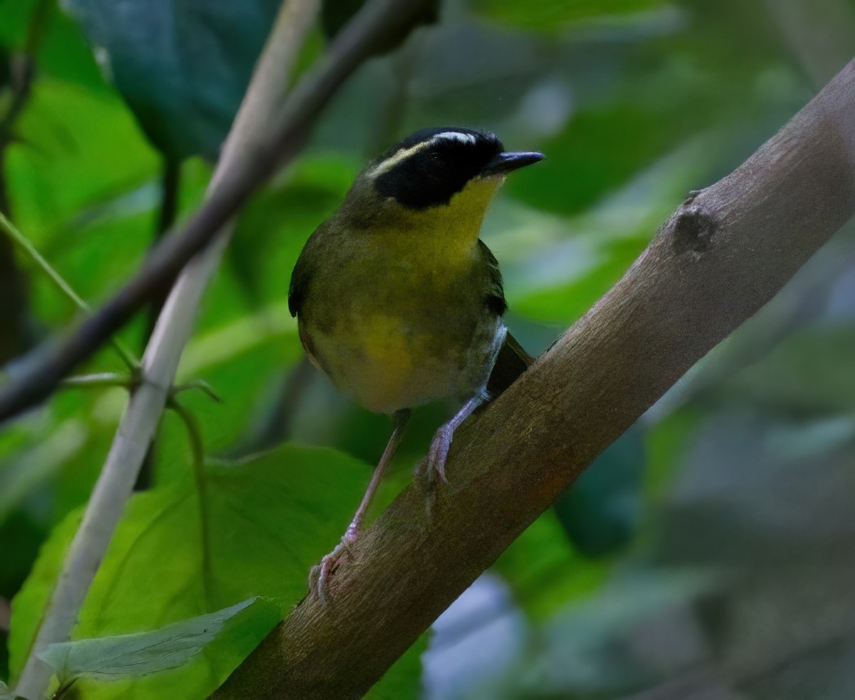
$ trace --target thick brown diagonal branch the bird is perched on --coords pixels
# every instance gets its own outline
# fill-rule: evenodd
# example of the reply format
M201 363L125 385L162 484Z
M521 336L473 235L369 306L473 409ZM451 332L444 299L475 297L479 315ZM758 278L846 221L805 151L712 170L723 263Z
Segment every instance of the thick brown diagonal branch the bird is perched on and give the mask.
M610 442L855 211L855 62L688 199L609 294L473 423L428 523L398 496L212 697L361 697Z

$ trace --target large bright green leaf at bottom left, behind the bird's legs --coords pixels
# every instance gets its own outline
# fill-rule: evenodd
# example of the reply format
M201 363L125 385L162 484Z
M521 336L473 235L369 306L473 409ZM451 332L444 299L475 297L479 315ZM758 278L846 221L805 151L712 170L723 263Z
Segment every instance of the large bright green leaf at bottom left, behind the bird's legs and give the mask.
M338 542L370 469L328 449L286 445L209 466L200 495L181 483L133 496L80 611L73 639L150 630L260 596L263 614L227 628L184 667L103 684L84 697L207 697L307 591L310 567ZM57 528L15 597L10 670L20 673L74 522Z

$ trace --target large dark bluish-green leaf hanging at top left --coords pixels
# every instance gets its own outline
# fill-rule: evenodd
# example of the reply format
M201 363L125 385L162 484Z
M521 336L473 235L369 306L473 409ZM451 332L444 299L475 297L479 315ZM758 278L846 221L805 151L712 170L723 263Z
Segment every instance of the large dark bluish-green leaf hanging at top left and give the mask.
M215 157L279 0L63 0L152 143Z

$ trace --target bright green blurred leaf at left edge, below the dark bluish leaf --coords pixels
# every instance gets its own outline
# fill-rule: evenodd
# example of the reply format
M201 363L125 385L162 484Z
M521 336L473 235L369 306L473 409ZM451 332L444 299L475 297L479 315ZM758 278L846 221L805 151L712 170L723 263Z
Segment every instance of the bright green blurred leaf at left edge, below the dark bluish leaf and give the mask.
M139 262L135 258L150 241L148 213L156 192L134 190L156 174L156 153L115 93L53 78L43 77L33 85L15 132L21 141L9 147L6 163L15 224L77 292L92 301L93 290L102 292L105 282L115 285L116 278L134 269ZM86 211L115 199L124 206L114 207L109 217L96 218ZM139 217L140 212L146 216ZM139 226L133 225L138 221ZM114 254L104 256L104 246ZM92 264L95 250L100 257ZM52 288L45 294L57 298ZM67 302L61 302L67 309Z

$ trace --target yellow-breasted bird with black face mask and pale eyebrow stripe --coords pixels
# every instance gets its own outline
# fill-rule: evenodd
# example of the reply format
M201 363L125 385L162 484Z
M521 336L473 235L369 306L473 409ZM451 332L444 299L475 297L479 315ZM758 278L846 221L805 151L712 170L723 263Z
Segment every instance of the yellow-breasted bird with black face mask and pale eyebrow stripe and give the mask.
M305 353L340 392L390 414L393 424L344 537L310 572L310 591L322 601L362 531L411 409L462 403L417 470L429 483L445 482L455 430L490 399L487 381L500 349L518 347L503 321L498 261L479 234L505 177L543 158L505 151L489 131L412 133L357 175L298 257L288 308Z

